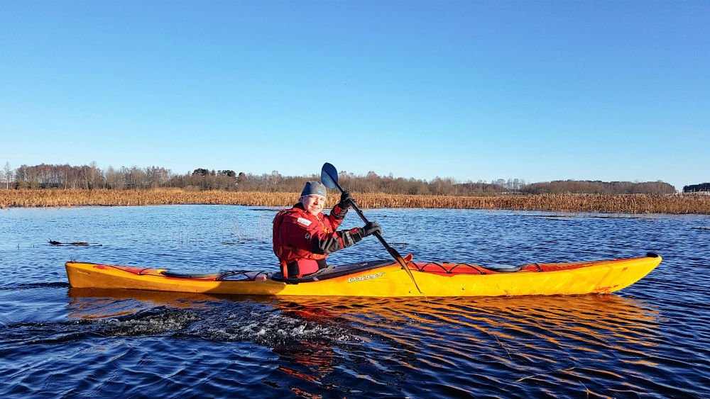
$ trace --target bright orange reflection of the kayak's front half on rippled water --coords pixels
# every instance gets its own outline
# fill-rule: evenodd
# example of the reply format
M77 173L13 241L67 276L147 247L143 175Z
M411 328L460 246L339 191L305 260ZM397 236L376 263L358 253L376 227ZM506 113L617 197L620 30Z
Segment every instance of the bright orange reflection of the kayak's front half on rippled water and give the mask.
M273 300L278 304L279 301ZM415 349L421 342L490 345L514 342L520 347L559 344L573 338L583 344L612 339L648 344L658 322L657 310L633 298L604 296L527 296L500 298L313 298L298 299L311 316L358 325L365 340L382 337ZM446 331L442 335L442 330ZM446 342L446 343L444 343Z

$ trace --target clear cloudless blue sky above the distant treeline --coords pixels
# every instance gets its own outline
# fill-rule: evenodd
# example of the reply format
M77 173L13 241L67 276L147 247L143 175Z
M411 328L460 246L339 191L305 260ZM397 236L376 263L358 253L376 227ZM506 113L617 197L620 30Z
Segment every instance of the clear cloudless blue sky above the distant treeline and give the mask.
M710 181L709 1L0 4L0 167Z

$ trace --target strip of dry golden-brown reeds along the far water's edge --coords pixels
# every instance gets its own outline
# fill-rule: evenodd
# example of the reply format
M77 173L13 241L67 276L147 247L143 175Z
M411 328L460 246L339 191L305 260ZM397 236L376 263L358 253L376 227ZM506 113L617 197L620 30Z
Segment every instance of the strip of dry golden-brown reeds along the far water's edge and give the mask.
M415 196L355 193L361 208L454 208L548 210L553 212L710 214L710 196L647 194L540 194L530 196ZM339 196L332 193L327 206ZM144 206L175 204L222 204L291 206L297 193L242 191L185 191L155 189L115 190L0 190L0 208L62 206Z

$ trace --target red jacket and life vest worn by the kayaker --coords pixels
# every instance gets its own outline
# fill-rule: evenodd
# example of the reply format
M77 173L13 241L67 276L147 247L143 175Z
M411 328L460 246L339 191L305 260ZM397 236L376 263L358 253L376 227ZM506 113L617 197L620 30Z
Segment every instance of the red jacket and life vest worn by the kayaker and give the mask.
M312 215L300 203L280 211L273 219L273 252L279 259L283 276L296 278L318 271L317 261L328 255L312 252L313 240L324 240L328 236L339 239L336 229L340 223L342 219L333 215ZM316 262L299 262L305 259ZM288 264L293 262L298 262L298 276L288 275Z

